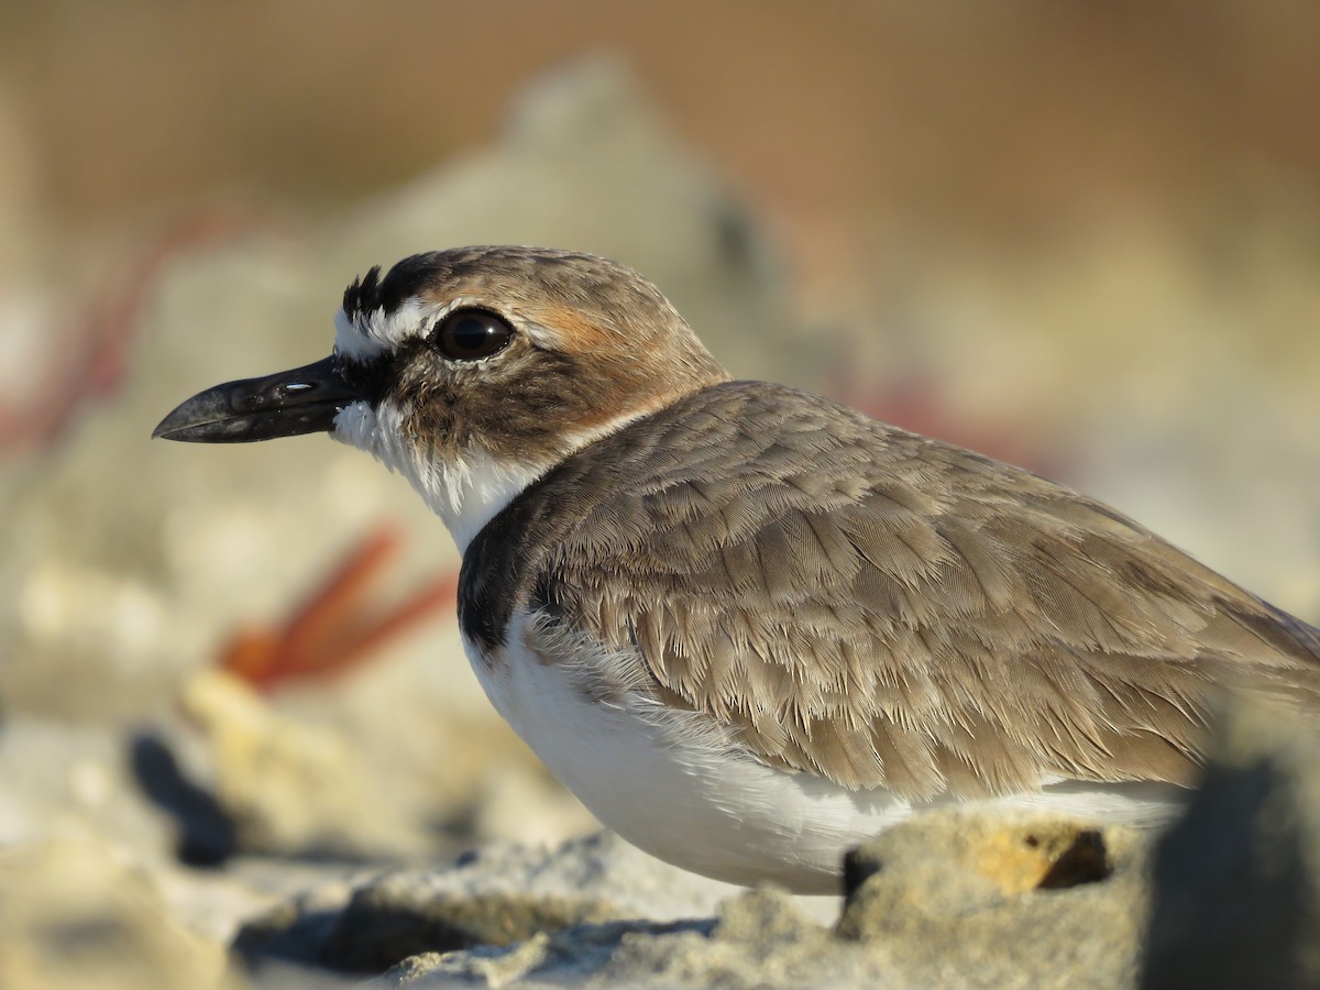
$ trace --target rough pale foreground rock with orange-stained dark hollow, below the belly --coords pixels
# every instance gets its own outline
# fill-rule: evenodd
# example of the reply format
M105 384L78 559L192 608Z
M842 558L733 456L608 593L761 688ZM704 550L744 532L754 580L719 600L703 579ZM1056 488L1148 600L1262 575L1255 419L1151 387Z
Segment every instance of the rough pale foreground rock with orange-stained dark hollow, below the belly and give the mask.
M936 812L851 855L834 925L833 899L747 891L713 917L583 924L508 948L429 953L375 986L1125 987L1137 978L1146 853L1125 829ZM619 890L632 876L619 874ZM504 882L517 898L517 871Z

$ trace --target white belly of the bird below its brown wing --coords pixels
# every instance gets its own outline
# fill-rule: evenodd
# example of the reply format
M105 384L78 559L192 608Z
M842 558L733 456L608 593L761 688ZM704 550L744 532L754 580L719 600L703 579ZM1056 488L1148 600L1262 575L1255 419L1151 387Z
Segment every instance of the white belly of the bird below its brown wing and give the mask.
M730 752L690 713L638 694L593 698L581 667L527 649L524 627L515 619L494 667L465 640L487 697L602 824L660 859L730 883L836 894L843 853L913 812L887 791L853 792ZM1059 783L998 803L1151 824L1171 800L1167 785Z

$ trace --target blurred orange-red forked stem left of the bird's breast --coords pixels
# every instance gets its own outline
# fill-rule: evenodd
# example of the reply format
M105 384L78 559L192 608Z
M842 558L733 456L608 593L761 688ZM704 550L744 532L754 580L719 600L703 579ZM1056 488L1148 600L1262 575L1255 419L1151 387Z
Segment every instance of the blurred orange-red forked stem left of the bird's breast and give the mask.
M399 545L395 527L378 527L281 628L240 632L224 649L220 667L261 690L297 680L326 680L360 667L381 643L437 615L453 614L457 570L384 611L366 606L372 583Z

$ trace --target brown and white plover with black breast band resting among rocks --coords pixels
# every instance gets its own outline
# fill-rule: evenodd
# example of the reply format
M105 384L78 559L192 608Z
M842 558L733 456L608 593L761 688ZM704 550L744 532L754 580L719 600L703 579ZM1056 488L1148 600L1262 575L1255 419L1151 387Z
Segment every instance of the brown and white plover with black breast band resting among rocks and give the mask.
M445 523L471 667L560 781L719 880L834 892L850 847L939 807L1154 828L1224 692L1320 711L1315 627L1031 471L735 380L594 255L371 268L329 358L153 436L309 433Z

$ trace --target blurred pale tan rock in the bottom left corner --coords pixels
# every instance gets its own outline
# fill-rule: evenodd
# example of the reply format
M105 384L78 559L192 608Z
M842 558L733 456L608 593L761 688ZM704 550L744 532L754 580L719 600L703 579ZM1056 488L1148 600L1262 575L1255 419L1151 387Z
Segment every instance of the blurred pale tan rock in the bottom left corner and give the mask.
M0 850L0 986L238 987L224 949L185 929L112 846L50 840Z

